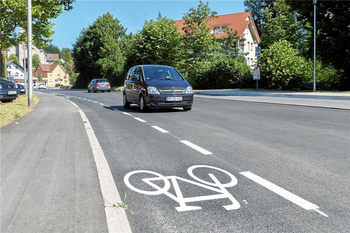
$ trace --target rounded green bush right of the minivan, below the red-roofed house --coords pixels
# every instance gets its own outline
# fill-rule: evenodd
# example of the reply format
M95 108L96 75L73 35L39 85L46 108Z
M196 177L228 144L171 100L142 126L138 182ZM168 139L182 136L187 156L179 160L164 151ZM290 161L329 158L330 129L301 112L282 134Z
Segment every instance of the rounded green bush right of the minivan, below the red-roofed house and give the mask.
M254 87L252 70L243 59L219 56L197 61L188 67L189 82L195 89Z

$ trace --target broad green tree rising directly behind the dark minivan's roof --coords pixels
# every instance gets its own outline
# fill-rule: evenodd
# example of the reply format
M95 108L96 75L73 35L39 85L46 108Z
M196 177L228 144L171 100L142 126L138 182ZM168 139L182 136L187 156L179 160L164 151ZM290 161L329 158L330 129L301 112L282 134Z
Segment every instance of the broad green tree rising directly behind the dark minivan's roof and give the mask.
M177 66L184 59L181 33L175 21L159 14L156 21L145 21L132 41L132 55L138 64Z

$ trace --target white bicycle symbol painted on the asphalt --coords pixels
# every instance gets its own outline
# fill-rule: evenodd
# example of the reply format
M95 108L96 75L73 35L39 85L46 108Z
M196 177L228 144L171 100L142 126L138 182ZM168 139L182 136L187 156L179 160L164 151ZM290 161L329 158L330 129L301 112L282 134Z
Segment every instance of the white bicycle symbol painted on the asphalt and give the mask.
M229 183L222 184L221 182L219 182L219 180L213 174L208 174L214 182L207 182L207 181L204 181L204 180L198 178L197 176L195 176L193 174L193 170L195 168L203 168L203 167L219 170L219 171L227 174L231 178L231 181ZM147 183L151 187L155 188L157 191L145 191L145 190L135 188L133 185L131 185L129 182L129 178L130 178L130 176L137 174L137 173L149 173L149 174L153 174L153 175L158 176L158 177L142 179L142 181L144 181L145 183ZM137 171L129 172L128 174L126 174L124 176L124 182L125 182L127 187L129 187L130 189L132 189L136 192L139 192L141 194L146 194L146 195L165 194L165 195L167 195L168 197L172 198L174 201L179 203L180 206L175 207L175 209L177 211L202 209L202 207L200 207L200 206L187 206L186 205L187 202L205 201L205 200L212 200L212 199L219 199L219 198L229 198L230 201L232 202L231 205L224 205L223 206L226 210L235 210L235 209L238 209L240 207L240 204L236 201L236 199L226 190L226 187L232 187L232 186L237 184L236 177L234 175L232 175L231 173L229 173L223 169L220 169L217 167L212 167L212 166L207 166L207 165L191 166L187 169L187 173L193 179L195 179L196 181L199 181L200 183L195 182L195 181L191 181L191 180L179 177L179 176L163 176L159 173L148 171L148 170L137 170ZM164 182L164 187L161 188L158 185L151 182L151 181L156 181L156 180L162 180ZM172 184L174 186L176 196L168 192L168 190L170 189L169 180L172 182ZM212 191L216 191L219 194L184 198L182 195L182 192L180 190L179 184L177 183L177 180L181 180L181 181L184 181L184 182L187 182L190 184L198 185L200 187L210 189ZM218 188L214 188L214 187L218 187Z

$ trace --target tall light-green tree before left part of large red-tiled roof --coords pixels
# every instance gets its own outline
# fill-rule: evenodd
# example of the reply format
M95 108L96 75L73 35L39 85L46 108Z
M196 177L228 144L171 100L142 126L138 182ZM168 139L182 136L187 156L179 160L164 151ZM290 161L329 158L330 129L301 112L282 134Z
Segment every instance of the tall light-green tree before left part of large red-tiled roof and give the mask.
M197 8L191 7L182 17L185 48L190 59L211 59L212 55L221 49L221 44L217 42L215 35L209 33L211 29L209 21L217 17L216 14L216 11L210 10L209 2L204 4L200 1Z

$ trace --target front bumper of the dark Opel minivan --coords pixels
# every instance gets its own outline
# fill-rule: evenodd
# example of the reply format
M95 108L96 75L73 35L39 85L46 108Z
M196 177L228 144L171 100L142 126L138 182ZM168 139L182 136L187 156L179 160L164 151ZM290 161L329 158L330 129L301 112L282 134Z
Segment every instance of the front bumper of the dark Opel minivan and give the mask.
M182 97L182 100L171 101L166 97ZM169 99L169 98L168 98ZM193 104L193 94L161 95L151 94L146 96L148 108L191 108Z

